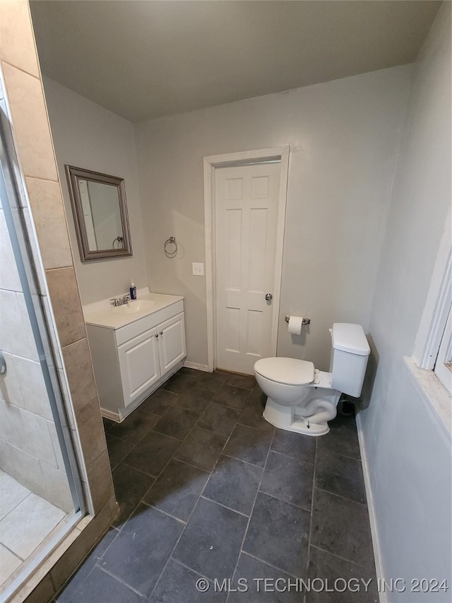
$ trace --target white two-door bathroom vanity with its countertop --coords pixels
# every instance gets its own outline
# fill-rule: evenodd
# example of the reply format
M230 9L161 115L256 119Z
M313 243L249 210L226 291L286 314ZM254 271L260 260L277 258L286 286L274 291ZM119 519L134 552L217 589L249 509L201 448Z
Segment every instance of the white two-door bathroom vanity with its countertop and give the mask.
M102 415L121 421L184 363L184 300L148 293L145 303L83 312Z

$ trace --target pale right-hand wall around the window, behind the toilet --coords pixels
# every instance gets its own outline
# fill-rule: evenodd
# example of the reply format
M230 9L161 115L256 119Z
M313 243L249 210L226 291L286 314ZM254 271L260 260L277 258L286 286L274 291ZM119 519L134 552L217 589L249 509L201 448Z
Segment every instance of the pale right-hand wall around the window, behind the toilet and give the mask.
M448 579L451 441L417 390L411 356L451 204L451 4L417 63L396 169L369 331L376 380L360 412L386 578ZM389 600L449 602L451 592Z

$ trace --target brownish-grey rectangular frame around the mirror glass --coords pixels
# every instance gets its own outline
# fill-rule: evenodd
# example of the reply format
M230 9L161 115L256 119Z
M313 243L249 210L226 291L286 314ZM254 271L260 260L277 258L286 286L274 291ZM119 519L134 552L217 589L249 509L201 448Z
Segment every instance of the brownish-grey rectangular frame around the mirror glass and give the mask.
M127 255L132 255L132 242L129 230L129 216L127 214L126 187L124 185L124 178L117 178L115 176L101 174L100 172L74 168L73 165L65 165L64 168L66 169L73 220L76 225L78 249L80 250L82 262L92 259L103 259L106 257L124 257ZM113 185L118 188L119 211L121 213L121 226L124 237L124 247L121 249L104 249L96 251L90 250L85 220L83 218L83 206L80 197L80 190L78 188L78 178L83 178L83 180L90 180L92 182L103 182L107 185Z

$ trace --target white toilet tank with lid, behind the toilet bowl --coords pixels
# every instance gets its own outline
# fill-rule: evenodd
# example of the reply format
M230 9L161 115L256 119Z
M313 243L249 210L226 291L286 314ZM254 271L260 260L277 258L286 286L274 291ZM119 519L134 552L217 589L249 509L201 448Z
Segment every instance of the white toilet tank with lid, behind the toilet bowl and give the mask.
M361 395L370 348L360 324L335 322L331 329L331 385L355 398Z

